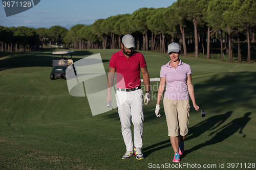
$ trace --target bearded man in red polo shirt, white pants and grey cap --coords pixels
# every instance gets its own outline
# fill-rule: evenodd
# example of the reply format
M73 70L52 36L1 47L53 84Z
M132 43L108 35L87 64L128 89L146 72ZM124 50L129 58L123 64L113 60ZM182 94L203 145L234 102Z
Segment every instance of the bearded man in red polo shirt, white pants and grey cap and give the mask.
M142 73L146 89L144 96L145 105L151 101L150 77L148 76L144 56L134 51L135 41L133 36L130 34L123 36L121 46L122 50L113 54L110 59L108 97L106 102L112 99L111 87L113 86L115 72L117 72L117 108L122 127L123 140L126 145L126 153L122 156L122 159L130 158L135 154L136 158L141 160L144 159L141 152L144 115L142 108L143 92L140 87L140 72ZM131 120L134 125L134 149Z

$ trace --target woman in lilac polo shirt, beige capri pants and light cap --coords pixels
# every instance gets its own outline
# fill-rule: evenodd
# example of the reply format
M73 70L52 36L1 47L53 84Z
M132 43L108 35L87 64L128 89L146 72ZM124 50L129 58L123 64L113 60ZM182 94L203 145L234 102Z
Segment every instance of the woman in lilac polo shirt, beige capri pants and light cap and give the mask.
M184 153L184 139L188 133L189 96L196 110L199 110L199 106L195 100L190 66L179 59L180 45L175 42L169 44L167 53L170 61L160 70L155 114L157 117L161 116L159 113L160 101L166 83L163 106L168 136L170 136L175 153L173 162L180 162L180 155Z

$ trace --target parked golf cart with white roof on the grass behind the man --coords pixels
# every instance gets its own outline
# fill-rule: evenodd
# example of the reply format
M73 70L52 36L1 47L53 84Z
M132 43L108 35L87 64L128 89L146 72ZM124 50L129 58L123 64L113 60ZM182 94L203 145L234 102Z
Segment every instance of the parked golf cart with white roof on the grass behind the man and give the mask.
M69 53L71 53L71 59L69 59ZM66 69L69 65L73 64L72 60L72 53L75 53L74 51L58 51L53 52L53 58L52 58L52 73L50 75L50 79L54 80L55 77L57 78L64 78L66 79ZM54 60L54 54L61 54L60 60ZM67 54L67 58L63 57L63 54Z

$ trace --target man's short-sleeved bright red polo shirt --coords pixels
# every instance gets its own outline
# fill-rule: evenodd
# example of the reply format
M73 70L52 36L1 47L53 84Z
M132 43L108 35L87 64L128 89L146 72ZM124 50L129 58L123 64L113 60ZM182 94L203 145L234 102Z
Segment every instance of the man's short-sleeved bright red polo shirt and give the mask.
M146 61L139 52L134 51L134 54L127 58L120 50L111 56L109 66L120 73L117 74L117 88L135 88L140 86L140 68L146 66ZM124 83L118 83L123 82L122 78Z

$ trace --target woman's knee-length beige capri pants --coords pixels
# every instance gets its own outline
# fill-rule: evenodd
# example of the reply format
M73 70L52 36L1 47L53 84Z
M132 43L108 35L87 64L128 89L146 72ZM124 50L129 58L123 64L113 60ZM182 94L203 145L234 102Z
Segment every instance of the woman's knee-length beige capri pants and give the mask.
M163 107L168 126L168 136L185 136L188 132L189 100L177 101L165 98Z

